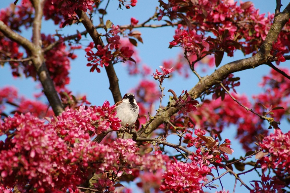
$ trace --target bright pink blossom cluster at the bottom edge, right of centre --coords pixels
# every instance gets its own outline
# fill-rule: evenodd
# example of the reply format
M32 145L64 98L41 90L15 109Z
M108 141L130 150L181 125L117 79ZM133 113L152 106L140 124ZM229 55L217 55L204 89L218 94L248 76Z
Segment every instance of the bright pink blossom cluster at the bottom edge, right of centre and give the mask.
M163 174L165 179L160 190L168 193L200 192L203 186L202 181L207 181L206 175L209 171L208 166L198 165L195 161L184 163L175 159L167 165Z

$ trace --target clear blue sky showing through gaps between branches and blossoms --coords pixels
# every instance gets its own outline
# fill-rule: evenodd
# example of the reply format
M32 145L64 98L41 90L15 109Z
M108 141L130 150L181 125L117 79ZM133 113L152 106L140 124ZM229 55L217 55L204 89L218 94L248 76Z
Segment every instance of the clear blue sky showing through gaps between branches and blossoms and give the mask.
M14 0L6 0L2 1L0 4L0 8L7 7L10 3L13 3ZM18 2L20 3L20 1ZM276 1L273 0L254 0L253 1L256 8L260 9L260 13L267 13L271 12L273 13L276 8ZM284 9L284 7L287 5L287 0L282 0L282 4L284 5L281 10ZM142 1L139 0L137 3L137 6L130 9L118 9L118 1L113 0L110 1L109 7L108 7L108 15L104 17L104 20L110 19L113 24L117 25L123 25L123 24L129 24L130 18L135 17L139 20L139 23L147 20L149 17L153 15L155 12L156 6L158 6L159 3L157 0L148 0L148 1ZM102 7L105 5L101 4ZM93 19L97 22L98 18L97 16L93 17ZM55 29L52 27L51 21L44 21L42 24L41 32L45 34L54 34ZM97 24L97 23L95 23ZM66 27L59 31L59 33L62 33L64 35L72 35L76 33L76 29L78 31L84 31L84 28L79 25L77 28L75 26L73 27ZM159 66L162 65L162 61L172 59L175 60L175 57L179 53L180 49L173 48L168 49L168 42L173 40L172 36L174 35L174 28L172 27L166 27L166 28L159 28L159 29L153 29L153 28L139 28L138 31L141 31L142 38L144 44L138 43L138 53L140 58L142 59L142 63L149 65L152 67L153 70L159 69ZM28 39L31 38L31 29L25 30L23 29L22 35ZM82 38L82 43L84 45L88 45L90 40L86 38ZM113 104L113 97L111 95L108 83L108 78L106 76L105 69L101 69L101 73L90 73L89 67L86 67L87 60L84 57L85 52L84 51L76 51L75 52L78 57L77 59L71 61L71 70L70 70L70 78L71 82L69 84L69 89L73 91L73 93L77 94L86 94L88 101L90 101L93 105L102 105L105 100L110 101L110 104ZM244 58L244 55L241 52L238 52L234 55L233 58L224 57L221 65L224 65L228 62L238 60ZM279 67L288 67L289 68L289 61L286 61L284 63L281 63ZM209 70L208 74L213 72L215 68ZM240 94L247 94L247 96L252 96L254 94L259 94L262 90L260 87L258 87L258 83L261 81L261 77L265 74L268 74L270 70L270 67L268 66L260 66L256 69L249 69L244 72L237 72L235 73L235 76L238 76L241 78L240 82L241 85L239 87L235 87L238 93ZM117 73L117 76L119 78L119 86L122 95L128 92L131 88L135 87L139 81L142 79L141 76L128 76L128 73L126 71L126 68L124 68L124 65L122 63L119 63L115 65L115 71ZM151 79L151 76L147 77L148 79ZM177 94L181 93L182 90L190 90L196 83L197 78L193 74L190 76L190 78L185 79L180 76L175 76L172 79L167 79L163 86L165 87L165 90L172 89ZM0 68L0 87L3 86L11 86L13 85L19 90L19 94L26 96L27 98L32 98L34 93L39 93L41 89L37 87L38 83L35 83L32 78L26 79L24 76L20 78L13 78L12 74L10 72L10 68L8 65L4 65L3 68ZM166 99L168 99L169 94L165 93L164 97L164 104L167 103ZM45 102L45 99L44 99ZM282 122L281 126L282 130L288 131L289 130L289 124L287 124L285 121ZM224 138L229 138L232 140L233 148L235 152L232 156L229 156L231 159L233 156L235 158L239 158L240 155L244 155L244 151L240 148L240 145L237 141L234 140L234 128L229 128L226 133L227 136L223 136ZM175 138L175 137L173 137ZM177 140L172 139L172 142L177 142ZM247 167L246 167L247 169ZM222 171L220 171L220 174ZM245 174L244 176L241 176L242 179L245 180L245 182L249 182L253 179L257 179L257 176L251 174ZM226 175L225 178L222 178L222 183L224 187L227 190L230 190L230 192L233 190L233 184L234 184L234 177L230 175ZM216 181L215 184L218 184L218 181ZM238 183L236 187L236 192L248 192L243 187L239 186ZM220 190L220 188L218 189ZM209 190L208 190L209 191ZM211 192L211 191L209 191ZM214 192L214 191L213 191Z

